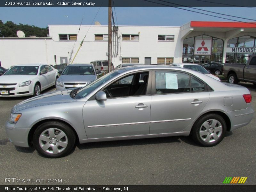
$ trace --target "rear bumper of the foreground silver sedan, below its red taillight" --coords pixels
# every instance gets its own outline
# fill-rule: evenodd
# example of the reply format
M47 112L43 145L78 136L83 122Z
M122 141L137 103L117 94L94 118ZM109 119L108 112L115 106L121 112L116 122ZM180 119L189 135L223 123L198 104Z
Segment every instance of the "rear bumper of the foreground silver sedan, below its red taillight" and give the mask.
M250 123L253 117L253 109L248 107L242 110L229 111L226 114L229 116L231 121L230 131L243 127Z

